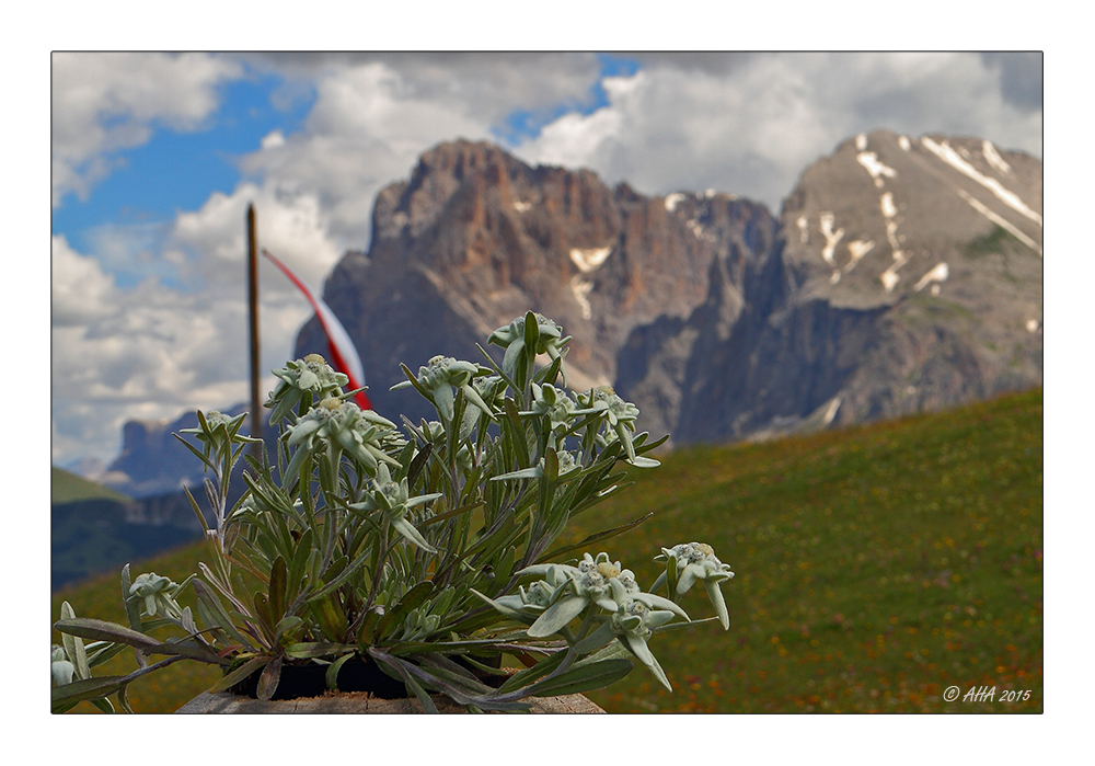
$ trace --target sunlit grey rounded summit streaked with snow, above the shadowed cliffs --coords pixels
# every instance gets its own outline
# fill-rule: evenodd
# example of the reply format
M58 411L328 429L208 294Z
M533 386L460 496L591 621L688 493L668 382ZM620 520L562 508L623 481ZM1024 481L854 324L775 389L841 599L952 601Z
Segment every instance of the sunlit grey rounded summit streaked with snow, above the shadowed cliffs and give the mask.
M807 291L841 305L938 296L968 265L959 245L996 228L1041 255L1040 171L984 139L860 134L784 203L788 262Z

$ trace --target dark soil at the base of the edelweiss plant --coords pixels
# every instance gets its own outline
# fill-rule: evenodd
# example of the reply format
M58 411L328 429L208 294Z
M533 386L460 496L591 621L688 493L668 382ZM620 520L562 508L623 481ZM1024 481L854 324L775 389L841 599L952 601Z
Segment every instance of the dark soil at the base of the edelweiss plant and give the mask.
M496 658L496 660L497 662L491 664L500 666L502 658ZM460 662L459 658L457 658L457 662ZM328 665L312 662L307 665L283 665L281 677L270 699L322 697L327 691L327 667ZM476 673L476 675L480 674ZM261 672L252 673L240 683L229 687L228 690L241 697L257 699L261 676ZM504 678L498 679L497 676L483 676L482 679L489 685L504 681ZM346 664L338 670L338 690L368 691L380 699L405 699L407 696L403 682L392 678L380 670L377 663L361 658L347 660Z

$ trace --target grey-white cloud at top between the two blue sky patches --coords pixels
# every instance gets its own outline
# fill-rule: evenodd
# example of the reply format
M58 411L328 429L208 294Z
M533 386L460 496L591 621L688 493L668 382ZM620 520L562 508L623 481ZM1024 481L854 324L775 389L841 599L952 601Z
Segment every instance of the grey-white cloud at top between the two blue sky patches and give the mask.
M281 195L314 195L341 247L368 247L372 201L418 156L454 138L491 139L515 111L589 102L591 55L344 54L252 57L311 77L315 100L301 132L265 141L241 161Z

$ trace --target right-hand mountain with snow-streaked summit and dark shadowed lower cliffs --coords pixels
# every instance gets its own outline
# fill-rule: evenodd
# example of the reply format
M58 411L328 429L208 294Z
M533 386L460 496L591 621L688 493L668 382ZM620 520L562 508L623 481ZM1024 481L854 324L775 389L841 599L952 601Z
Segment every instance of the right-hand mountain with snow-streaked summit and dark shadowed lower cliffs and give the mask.
M677 443L858 423L1041 385L1041 163L885 130L784 202L772 251L638 328L616 388Z

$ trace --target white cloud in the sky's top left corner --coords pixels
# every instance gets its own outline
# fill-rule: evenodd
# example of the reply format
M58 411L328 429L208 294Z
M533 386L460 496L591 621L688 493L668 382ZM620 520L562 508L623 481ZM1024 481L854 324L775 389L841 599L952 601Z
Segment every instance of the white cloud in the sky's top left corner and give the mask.
M208 54L55 53L53 203L85 198L158 126L193 130L217 108L217 85L239 77L230 58Z

